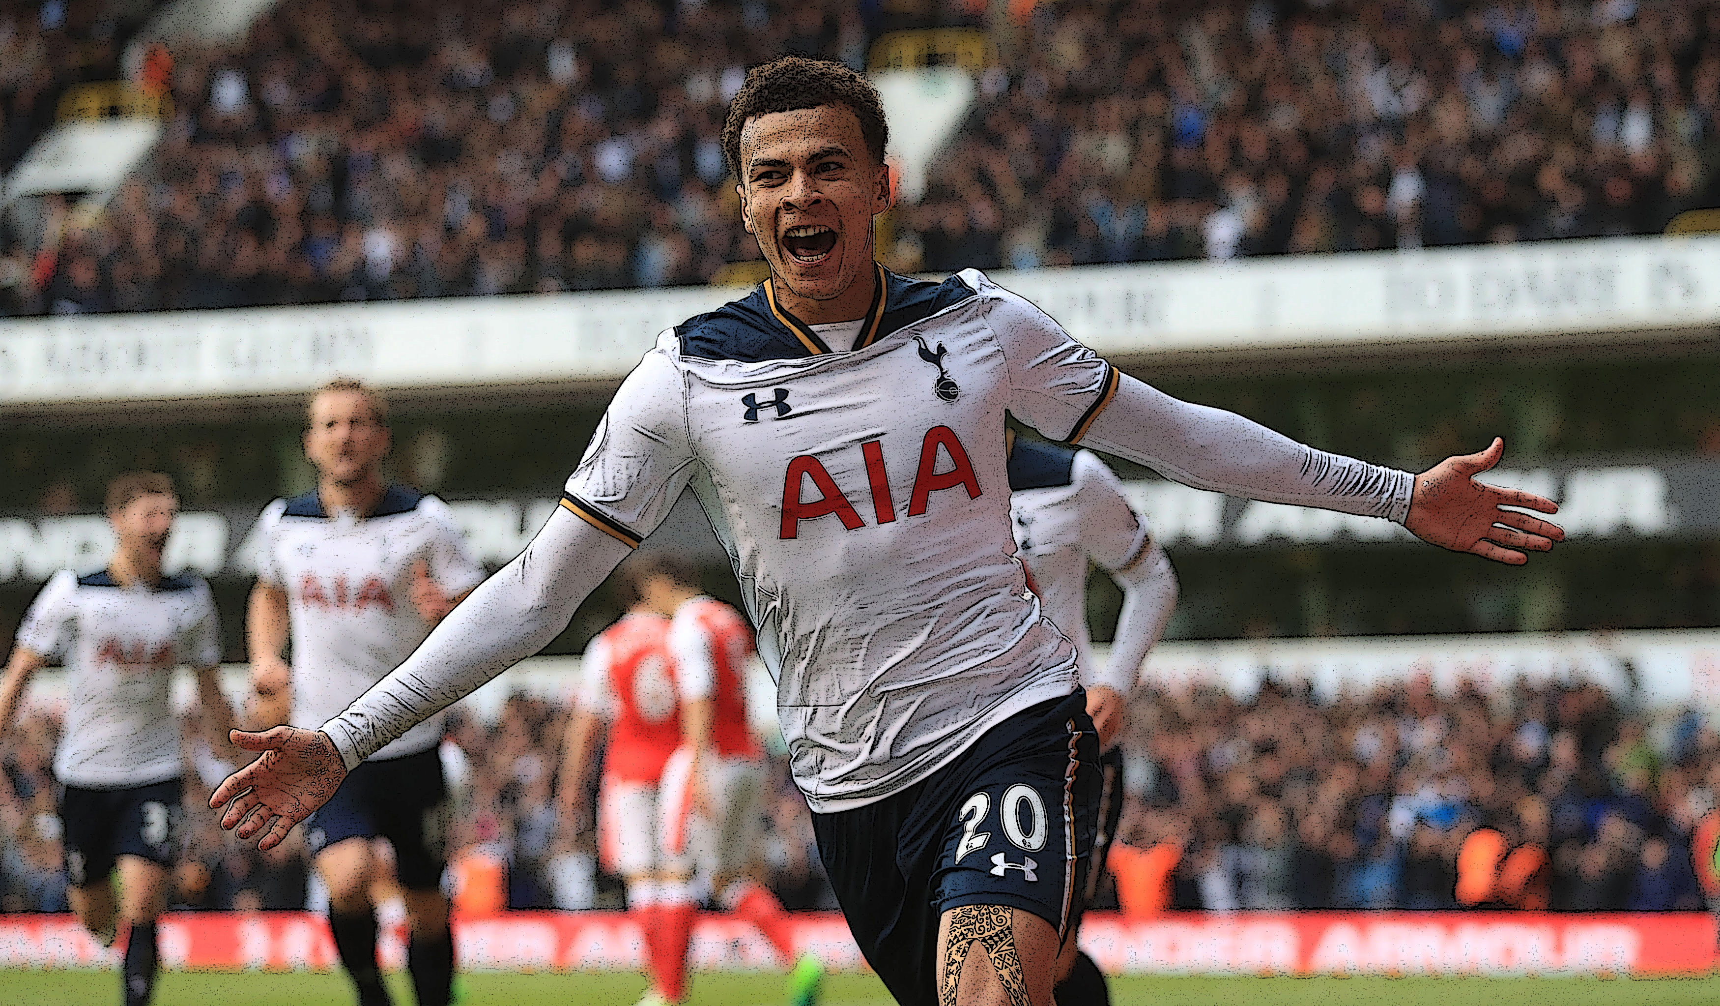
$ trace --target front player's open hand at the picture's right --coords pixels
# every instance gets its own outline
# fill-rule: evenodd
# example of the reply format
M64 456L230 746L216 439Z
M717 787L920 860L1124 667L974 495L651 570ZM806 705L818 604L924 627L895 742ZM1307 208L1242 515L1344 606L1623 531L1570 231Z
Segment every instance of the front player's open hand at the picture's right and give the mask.
M1520 488L1498 488L1476 482L1476 475L1498 464L1503 456L1505 440L1495 437L1479 454L1447 457L1417 475L1404 526L1417 538L1441 549L1474 552L1483 559L1510 566L1527 562L1526 552L1551 550L1555 542L1565 540L1563 528L1503 507L1557 514L1558 504Z

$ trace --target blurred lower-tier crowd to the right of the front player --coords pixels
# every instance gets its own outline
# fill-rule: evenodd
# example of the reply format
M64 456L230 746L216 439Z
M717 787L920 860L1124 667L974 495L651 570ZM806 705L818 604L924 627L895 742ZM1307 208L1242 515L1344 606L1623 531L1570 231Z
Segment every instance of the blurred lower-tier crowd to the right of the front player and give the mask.
M1161 848L1171 800L1197 822L1168 867L1176 906L1694 906L1720 734L1686 721L1625 717L1588 684L1330 705L1273 681L1249 702L1149 690L1133 722L1154 781L1125 815L1118 891L1146 884L1130 856Z

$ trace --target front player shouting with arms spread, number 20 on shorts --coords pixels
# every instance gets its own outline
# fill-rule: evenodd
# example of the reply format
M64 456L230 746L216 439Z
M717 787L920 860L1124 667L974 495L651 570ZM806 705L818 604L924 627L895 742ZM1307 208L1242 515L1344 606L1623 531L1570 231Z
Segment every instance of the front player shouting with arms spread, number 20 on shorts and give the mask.
M1405 523L1527 561L1551 500L1474 482L1503 442L1412 475L1314 451L1120 373L975 270L874 261L877 91L820 60L753 67L724 151L771 277L671 328L621 383L561 509L401 667L213 794L277 844L346 772L535 653L690 487L777 678L791 772L867 960L908 1004L1049 1006L1075 956L1099 745L1077 652L1027 590L1004 413L1187 485Z

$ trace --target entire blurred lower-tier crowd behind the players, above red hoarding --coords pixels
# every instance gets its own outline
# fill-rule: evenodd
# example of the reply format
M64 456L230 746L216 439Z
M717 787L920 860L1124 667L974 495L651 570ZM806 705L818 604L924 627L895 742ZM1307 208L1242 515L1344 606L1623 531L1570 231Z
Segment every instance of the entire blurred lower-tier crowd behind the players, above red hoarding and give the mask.
M564 721L559 703L514 696L492 724L451 722L458 908L621 908L619 882L593 874L590 834L556 820ZM187 808L225 774L193 726ZM3 911L65 910L55 731L29 715L0 753ZM1593 686L1440 696L1416 684L1319 703L1268 683L1245 702L1140 690L1130 731L1123 846L1101 908L1658 911L1720 894L1692 865L1720 831L1720 734L1696 714L1631 715ZM772 781L759 808L767 886L788 908L834 908L781 758ZM301 837L258 853L194 810L186 836L181 908L315 899Z

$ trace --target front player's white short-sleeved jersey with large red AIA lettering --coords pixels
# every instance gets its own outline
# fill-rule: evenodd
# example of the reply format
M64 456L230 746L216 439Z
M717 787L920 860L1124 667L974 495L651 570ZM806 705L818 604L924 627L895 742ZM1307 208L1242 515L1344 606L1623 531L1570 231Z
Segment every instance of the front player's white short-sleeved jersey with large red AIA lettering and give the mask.
M881 270L832 351L769 282L664 332L562 499L638 543L683 487L729 552L817 812L924 779L1077 686L1015 559L1004 413L1077 439L1116 371L975 270ZM829 332L829 328L824 328Z

